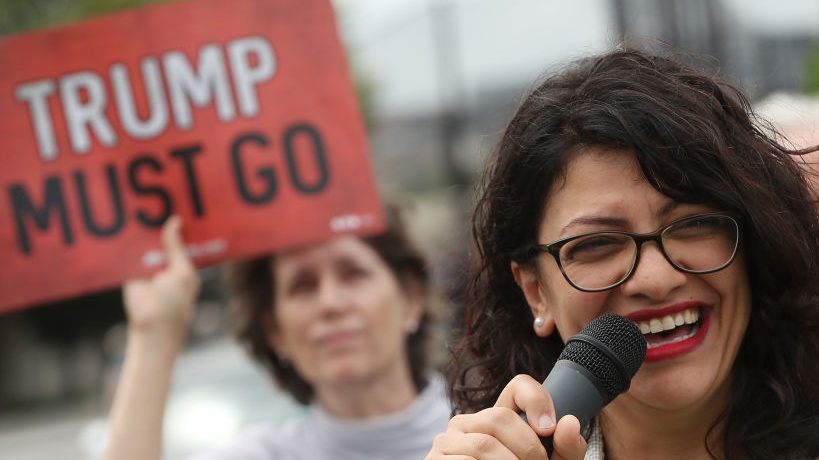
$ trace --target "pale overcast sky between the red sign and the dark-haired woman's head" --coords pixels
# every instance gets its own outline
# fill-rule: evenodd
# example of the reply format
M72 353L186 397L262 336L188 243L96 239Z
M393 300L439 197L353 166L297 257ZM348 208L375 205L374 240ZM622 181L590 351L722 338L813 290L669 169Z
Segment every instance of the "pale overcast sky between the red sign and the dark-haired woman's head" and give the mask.
M375 83L385 115L468 104L487 88L520 86L550 64L603 49L613 36L609 3L334 0L350 60Z

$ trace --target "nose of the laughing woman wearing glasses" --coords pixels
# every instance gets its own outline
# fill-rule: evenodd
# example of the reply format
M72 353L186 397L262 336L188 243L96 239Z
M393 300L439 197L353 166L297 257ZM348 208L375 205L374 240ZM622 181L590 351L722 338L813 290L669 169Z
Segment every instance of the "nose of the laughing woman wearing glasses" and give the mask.
M634 272L620 285L620 289L631 296L662 299L682 286L686 276L671 265L656 241L646 241L640 248Z

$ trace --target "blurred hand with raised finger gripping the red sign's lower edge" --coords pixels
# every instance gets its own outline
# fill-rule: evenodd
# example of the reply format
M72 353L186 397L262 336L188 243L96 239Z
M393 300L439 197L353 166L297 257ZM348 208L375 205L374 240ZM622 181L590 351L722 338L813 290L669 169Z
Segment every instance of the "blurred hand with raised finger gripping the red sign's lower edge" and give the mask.
M200 280L185 251L182 221L169 218L162 227L166 267L149 278L127 281L123 288L131 333L181 342L193 317Z

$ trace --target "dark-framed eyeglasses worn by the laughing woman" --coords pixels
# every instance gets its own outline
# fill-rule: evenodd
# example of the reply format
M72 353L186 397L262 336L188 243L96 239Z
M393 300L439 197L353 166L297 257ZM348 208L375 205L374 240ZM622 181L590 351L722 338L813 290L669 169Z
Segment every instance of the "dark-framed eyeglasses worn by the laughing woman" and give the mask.
M640 260L646 241L657 243L666 260L685 273L713 273L727 267L739 248L739 220L721 212L696 214L652 233L590 232L549 244L535 244L534 256L548 252L576 289L605 291L623 284Z

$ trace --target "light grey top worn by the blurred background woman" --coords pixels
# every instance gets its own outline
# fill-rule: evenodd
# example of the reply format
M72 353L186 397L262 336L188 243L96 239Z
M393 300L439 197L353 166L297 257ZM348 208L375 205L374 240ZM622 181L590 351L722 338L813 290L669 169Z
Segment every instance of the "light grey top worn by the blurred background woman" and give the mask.
M338 419L320 406L287 427L257 427L191 460L421 460L450 417L443 379L435 375L405 410L366 420Z

